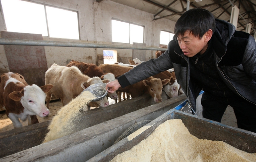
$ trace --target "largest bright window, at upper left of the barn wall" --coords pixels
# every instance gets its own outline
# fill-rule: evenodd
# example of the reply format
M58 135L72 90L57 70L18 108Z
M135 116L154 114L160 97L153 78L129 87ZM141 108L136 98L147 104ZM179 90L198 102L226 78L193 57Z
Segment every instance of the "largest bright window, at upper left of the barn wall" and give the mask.
M1 3L8 32L43 36L48 36L49 33L49 36L54 38L79 39L76 11L21 0L1 0Z

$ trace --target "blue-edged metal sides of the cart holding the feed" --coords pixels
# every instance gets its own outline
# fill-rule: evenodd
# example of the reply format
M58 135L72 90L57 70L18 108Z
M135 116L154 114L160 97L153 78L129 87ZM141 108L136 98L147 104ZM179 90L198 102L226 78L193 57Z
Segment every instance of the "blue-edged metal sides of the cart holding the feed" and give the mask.
M149 128L132 140L129 141L126 137L86 162L109 162L116 155L130 150L133 146L146 139L161 123L169 119L181 119L190 134L199 139L223 141L239 150L248 153L256 152L255 133L171 109L145 125L149 126Z

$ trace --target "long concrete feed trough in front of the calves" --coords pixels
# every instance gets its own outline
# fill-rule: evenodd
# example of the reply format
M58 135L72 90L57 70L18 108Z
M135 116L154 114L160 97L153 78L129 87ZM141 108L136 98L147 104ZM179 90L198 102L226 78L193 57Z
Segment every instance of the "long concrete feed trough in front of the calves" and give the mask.
M84 114L84 129L41 144L47 126L43 122L0 134L0 161L86 161L110 147L132 124L153 120L186 100L185 95L155 103L145 95ZM9 155L9 156L7 156Z

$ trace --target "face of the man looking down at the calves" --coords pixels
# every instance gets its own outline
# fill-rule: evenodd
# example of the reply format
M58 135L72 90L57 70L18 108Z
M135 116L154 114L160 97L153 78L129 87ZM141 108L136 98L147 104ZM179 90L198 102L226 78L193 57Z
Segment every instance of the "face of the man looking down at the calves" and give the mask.
M180 49L185 56L193 57L197 53L203 54L208 47L208 41L205 40L205 35L202 39L195 37L192 33L186 31L183 36L177 37Z

